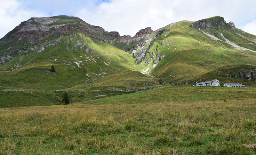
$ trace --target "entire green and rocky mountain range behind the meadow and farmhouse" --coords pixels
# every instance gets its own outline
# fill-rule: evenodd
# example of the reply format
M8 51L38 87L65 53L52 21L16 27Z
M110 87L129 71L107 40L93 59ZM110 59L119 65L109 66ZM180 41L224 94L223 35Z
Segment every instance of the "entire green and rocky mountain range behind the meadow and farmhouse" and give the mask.
M256 36L220 16L133 37L77 17L30 18L0 39L0 88L103 93L88 100L212 79L255 85L255 52Z

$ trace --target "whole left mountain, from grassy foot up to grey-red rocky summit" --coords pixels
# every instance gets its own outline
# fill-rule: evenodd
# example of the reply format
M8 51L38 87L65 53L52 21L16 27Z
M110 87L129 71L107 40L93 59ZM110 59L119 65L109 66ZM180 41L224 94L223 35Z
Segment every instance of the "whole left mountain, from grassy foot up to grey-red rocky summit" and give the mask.
M100 87L122 91L158 87L156 78L140 73L131 54L111 46L116 42L115 36L132 40L150 31L143 32L135 37L120 36L76 17L31 18L0 40L1 85L53 90ZM51 65L56 73L50 72Z

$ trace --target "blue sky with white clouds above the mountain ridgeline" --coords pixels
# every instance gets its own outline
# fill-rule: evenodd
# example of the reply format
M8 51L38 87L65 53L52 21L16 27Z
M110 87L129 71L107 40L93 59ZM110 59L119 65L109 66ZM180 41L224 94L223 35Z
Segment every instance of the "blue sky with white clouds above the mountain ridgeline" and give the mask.
M174 22L213 16L256 35L255 0L0 0L0 38L31 17L68 15L86 23L134 36Z

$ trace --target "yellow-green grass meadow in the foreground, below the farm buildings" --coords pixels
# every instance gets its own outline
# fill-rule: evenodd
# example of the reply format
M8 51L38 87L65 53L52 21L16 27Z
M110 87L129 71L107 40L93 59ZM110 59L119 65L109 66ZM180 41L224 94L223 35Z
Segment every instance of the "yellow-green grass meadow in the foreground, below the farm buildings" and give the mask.
M0 154L253 155L255 132L255 88L170 87L0 109Z

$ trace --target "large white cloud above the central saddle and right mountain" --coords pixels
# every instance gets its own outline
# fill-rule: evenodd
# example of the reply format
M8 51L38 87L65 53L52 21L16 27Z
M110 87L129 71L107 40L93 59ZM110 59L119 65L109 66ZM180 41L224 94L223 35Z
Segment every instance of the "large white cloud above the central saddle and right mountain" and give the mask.
M157 30L181 20L197 21L213 16L222 16L233 21L238 28L255 18L255 3L252 0L112 0L101 3L94 10L82 9L76 14L91 25L106 31L118 31L120 35L135 35L142 28ZM239 10L239 11L238 11Z

